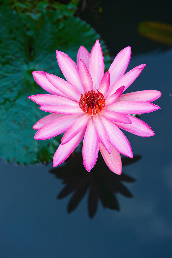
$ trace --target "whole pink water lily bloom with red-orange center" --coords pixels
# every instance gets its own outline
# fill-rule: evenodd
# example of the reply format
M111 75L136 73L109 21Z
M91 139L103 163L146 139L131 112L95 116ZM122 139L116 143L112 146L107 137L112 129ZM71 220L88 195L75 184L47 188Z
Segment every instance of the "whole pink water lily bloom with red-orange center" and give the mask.
M139 65L125 74L131 58L131 48L121 50L109 70L104 73L101 45L96 40L91 53L81 46L77 64L65 53L57 51L58 65L65 81L53 74L34 71L35 81L50 94L29 96L40 109L50 112L33 126L38 130L34 139L45 140L63 132L53 166L69 157L83 140L83 163L88 172L96 163L100 150L107 166L121 174L120 153L132 158L131 145L119 129L147 137L153 130L130 114L148 113L159 107L152 101L161 96L155 90L122 94L146 66Z

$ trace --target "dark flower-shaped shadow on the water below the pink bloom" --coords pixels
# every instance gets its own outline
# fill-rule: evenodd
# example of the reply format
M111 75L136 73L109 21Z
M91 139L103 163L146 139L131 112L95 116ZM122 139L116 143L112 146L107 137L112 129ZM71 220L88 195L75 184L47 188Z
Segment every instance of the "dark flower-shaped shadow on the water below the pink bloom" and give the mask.
M133 159L123 157L122 166L138 161L140 155L133 156ZM121 175L113 173L104 162L101 155L90 173L83 166L82 153L70 155L63 167L50 170L56 178L62 179L65 187L58 194L57 199L62 199L72 194L69 200L67 211L74 211L88 190L88 215L93 218L97 212L98 200L104 208L119 211L119 203L116 197L121 193L125 197L132 198L131 191L124 186L123 182L135 182L136 180L122 172Z

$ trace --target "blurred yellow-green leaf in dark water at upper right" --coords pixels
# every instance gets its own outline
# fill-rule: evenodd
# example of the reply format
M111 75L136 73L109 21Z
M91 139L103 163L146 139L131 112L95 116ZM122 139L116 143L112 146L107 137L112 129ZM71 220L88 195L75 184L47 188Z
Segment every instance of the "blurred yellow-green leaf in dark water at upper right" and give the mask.
M142 36L167 45L172 45L172 26L169 24L143 21L139 22L137 31Z

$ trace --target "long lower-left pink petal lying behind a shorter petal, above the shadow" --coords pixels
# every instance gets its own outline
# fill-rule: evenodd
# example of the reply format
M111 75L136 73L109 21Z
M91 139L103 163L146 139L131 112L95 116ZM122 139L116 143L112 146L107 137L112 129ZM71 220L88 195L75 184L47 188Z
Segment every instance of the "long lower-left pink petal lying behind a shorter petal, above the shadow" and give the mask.
M74 151L74 149L78 146L80 141L83 139L86 128L84 128L81 132L79 132L70 142L65 143L63 145L60 144L56 153L53 157L53 167L58 166L62 162L64 162L69 155Z

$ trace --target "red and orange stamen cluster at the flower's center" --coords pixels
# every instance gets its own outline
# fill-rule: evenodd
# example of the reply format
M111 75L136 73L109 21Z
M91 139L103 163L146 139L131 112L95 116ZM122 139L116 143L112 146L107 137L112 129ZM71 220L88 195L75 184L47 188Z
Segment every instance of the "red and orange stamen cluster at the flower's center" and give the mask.
M95 91L88 91L81 94L81 98L79 100L79 106L89 116L95 116L100 114L100 112L105 107L105 100L103 94L97 90L98 93Z

